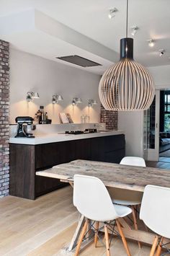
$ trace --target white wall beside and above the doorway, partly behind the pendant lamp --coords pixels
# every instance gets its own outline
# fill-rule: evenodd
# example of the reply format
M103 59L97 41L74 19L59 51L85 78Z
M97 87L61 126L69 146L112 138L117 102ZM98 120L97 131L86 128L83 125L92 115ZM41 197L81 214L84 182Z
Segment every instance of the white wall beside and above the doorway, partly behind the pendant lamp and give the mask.
M156 89L170 89L170 65L148 68ZM143 156L143 111L119 112L118 129L125 131L126 155Z

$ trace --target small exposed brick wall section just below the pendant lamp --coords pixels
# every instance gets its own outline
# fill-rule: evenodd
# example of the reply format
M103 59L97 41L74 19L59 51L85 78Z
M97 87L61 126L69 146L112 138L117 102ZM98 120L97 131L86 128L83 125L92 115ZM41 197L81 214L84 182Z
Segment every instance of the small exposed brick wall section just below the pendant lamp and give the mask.
M118 112L104 110L104 107L101 105L100 121L106 123L107 130L117 130Z

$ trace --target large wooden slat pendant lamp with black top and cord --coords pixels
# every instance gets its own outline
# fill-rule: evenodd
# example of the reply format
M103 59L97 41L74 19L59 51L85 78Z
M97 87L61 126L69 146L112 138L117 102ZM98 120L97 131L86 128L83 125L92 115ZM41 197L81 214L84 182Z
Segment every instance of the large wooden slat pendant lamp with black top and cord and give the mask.
M147 110L153 102L154 90L151 75L133 60L127 0L126 37L120 40L120 61L104 72L99 82L99 98L106 110Z

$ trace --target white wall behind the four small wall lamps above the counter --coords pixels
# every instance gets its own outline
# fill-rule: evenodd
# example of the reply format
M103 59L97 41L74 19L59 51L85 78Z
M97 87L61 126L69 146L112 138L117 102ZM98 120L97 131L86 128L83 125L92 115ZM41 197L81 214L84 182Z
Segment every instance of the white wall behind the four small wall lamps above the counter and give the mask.
M99 102L100 76L66 66L55 61L33 56L19 50L10 50L10 123L19 115L35 116L40 105L45 106L48 118L59 123L58 113L68 112L75 123L80 123L82 114L90 113L91 123L99 122L100 104L87 107L88 99ZM40 99L26 101L27 92L38 92ZM53 94L61 94L63 101L53 105ZM84 101L76 107L73 97Z

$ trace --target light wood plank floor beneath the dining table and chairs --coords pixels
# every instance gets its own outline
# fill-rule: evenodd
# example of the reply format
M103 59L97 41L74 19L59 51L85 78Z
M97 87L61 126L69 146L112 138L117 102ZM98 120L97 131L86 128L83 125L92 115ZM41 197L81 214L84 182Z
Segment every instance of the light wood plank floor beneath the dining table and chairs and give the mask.
M76 228L78 213L72 203L72 188L64 187L37 200L12 196L0 199L0 255L6 256L63 256ZM138 244L130 243L132 256L146 256L150 248L139 251ZM114 239L113 256L124 256L120 239ZM69 254L70 255L70 254ZM102 244L91 244L81 256L103 256Z

